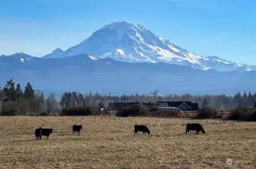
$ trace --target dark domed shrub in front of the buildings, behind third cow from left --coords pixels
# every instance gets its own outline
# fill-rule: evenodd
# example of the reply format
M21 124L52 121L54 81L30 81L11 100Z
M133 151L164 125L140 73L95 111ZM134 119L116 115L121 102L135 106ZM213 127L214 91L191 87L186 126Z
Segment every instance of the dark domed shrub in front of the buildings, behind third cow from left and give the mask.
M125 110L120 110L116 113L116 116L151 116L150 112L147 108L141 105L133 105L130 107L125 108Z

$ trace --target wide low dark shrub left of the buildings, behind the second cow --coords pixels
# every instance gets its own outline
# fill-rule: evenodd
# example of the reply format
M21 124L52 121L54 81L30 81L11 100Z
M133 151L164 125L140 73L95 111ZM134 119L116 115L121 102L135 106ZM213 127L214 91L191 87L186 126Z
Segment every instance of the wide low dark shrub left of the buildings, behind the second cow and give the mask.
M91 107L78 106L64 108L60 116L89 116L92 115Z

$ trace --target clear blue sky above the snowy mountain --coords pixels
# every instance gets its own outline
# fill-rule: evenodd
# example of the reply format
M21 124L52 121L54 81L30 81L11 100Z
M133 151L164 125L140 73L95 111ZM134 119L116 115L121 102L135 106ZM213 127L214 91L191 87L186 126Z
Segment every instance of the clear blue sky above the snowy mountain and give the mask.
M44 56L126 20L192 53L256 65L255 7L254 0L0 0L0 54Z

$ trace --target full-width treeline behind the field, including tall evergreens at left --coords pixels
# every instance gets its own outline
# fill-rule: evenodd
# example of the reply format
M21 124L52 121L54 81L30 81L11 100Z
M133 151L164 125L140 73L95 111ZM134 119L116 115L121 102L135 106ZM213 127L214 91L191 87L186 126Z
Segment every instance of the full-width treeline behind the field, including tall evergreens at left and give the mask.
M64 92L57 99L54 93L45 97L44 93L34 90L29 82L22 89L19 83L9 80L1 88L2 114L48 114L56 113L66 107L86 106L93 108L106 108L109 102L156 102L156 101L193 101L199 107L213 107L215 110L230 111L236 107L253 107L256 93L237 92L235 95L159 95L155 90L150 95L101 95L89 92ZM57 101L59 100L59 101Z

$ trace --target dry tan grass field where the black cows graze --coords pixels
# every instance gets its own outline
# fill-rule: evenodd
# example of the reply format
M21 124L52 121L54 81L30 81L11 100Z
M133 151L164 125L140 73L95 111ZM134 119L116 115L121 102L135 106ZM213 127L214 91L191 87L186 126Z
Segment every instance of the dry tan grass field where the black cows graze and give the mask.
M192 120L0 116L0 168L256 168L254 122L193 120L206 134L186 136L187 122ZM150 135L134 136L135 123L147 125ZM82 124L81 135L72 135L73 124ZM35 140L39 126L54 128L48 140Z

